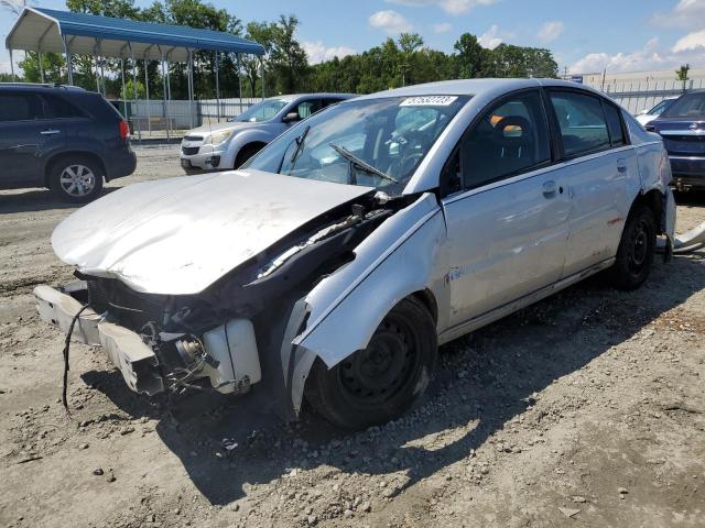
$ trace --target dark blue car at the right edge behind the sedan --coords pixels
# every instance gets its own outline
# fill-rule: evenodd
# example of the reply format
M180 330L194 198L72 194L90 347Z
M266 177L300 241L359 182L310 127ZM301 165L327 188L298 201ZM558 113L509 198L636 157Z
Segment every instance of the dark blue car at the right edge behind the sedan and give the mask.
M663 138L673 186L679 190L705 189L705 90L681 96L647 130Z

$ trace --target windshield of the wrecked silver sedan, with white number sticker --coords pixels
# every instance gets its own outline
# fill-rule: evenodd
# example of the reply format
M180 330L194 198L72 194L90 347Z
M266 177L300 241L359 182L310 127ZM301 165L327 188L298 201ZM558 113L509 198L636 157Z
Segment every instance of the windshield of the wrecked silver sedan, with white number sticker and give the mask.
M399 194L468 100L389 97L336 105L280 135L246 167Z

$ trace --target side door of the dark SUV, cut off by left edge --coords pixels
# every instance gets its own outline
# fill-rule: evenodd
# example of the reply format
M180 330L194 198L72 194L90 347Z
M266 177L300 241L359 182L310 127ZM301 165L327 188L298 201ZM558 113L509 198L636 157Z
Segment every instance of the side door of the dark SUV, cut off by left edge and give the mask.
M24 90L0 90L0 185L41 182L40 153L47 135L42 101Z

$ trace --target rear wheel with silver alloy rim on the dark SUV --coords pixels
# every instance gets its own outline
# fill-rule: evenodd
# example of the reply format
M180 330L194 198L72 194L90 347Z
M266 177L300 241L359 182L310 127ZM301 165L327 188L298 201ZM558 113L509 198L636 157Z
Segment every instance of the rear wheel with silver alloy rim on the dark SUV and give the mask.
M86 204L102 191L102 168L90 157L62 157L48 169L48 186L64 201Z

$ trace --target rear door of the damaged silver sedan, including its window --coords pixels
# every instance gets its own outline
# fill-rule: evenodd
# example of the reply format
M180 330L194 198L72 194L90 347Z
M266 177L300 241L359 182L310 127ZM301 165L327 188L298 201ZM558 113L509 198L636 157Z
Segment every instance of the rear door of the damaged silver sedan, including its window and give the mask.
M567 277L617 254L638 193L639 165L616 106L583 90L549 89L547 94L563 151L563 182L571 197L563 272Z

